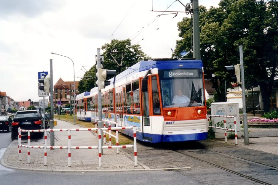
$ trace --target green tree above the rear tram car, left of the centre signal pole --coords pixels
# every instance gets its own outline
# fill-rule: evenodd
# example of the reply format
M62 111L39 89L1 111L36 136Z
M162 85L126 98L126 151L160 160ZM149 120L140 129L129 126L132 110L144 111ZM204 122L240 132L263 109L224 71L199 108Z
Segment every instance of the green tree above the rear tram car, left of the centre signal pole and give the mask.
M89 71L87 71L83 78L78 83L78 91L79 93L90 92L92 88L95 87L95 66L91 67Z

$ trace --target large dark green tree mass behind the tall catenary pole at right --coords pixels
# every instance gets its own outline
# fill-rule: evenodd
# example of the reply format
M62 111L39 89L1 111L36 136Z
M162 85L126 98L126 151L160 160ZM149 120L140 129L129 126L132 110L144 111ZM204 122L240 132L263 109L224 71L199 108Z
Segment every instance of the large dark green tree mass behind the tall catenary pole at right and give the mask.
M218 101L225 101L223 66L239 63L239 46L243 46L246 88L260 86L264 110L269 100L274 78L277 77L278 0L221 0L219 7L207 10L200 6L201 58L205 77L211 79ZM176 53L191 51L189 18L178 23ZM217 79L212 77L215 74ZM228 83L227 87L231 87Z

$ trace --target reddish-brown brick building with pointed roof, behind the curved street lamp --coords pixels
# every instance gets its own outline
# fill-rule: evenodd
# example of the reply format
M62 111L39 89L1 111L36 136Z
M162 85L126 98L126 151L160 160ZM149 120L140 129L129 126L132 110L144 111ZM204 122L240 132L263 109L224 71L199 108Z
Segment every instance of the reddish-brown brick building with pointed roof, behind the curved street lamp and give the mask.
M75 96L78 95L78 84L79 81L75 82ZM74 82L73 81L63 81L62 78L55 83L54 87L54 107L58 106L58 101L61 101L61 106L65 106L66 104L70 104L70 96L71 96L71 104L74 105ZM61 99L60 99L61 98Z

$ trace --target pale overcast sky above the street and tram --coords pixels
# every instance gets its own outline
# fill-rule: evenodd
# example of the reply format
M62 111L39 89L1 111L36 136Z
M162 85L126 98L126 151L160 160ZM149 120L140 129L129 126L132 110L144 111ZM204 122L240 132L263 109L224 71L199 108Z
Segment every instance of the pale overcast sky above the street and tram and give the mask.
M49 72L49 59L53 59L53 84L59 78L74 78L71 60L50 52L70 57L75 80L79 81L84 75L81 68L89 70L95 63L97 48L111 39L130 38L152 58L171 57L171 48L175 49L180 39L177 23L188 15L163 15L149 24L161 14L151 9L164 11L174 1L1 0L0 91L15 101L39 101L38 72ZM217 7L219 1L199 0L199 5L208 9ZM184 7L175 1L167 10L184 11Z

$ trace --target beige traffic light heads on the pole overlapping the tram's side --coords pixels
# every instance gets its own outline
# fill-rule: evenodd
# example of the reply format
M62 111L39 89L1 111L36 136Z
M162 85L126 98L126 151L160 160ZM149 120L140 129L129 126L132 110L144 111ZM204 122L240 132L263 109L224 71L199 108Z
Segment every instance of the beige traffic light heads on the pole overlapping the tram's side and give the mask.
M99 75L96 84L99 86L99 89L104 89L106 86L110 85L110 81L107 81L110 78L113 78L116 75L116 70L107 70L107 69L98 69L96 76Z

